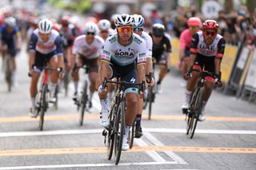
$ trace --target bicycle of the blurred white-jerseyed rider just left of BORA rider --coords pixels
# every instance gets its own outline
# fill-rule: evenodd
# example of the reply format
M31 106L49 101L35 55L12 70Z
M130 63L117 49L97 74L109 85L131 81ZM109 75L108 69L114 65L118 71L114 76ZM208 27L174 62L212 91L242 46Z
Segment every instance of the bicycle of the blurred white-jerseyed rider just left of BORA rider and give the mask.
M77 65L74 66L74 69L85 69L86 73L88 73L89 67L84 65L82 67L78 67ZM85 79L82 87L82 92L81 96L77 99L74 100L74 104L78 106L78 111L80 110L80 117L79 117L79 125L83 125L84 121L84 114L86 110L86 106L89 102L89 94L88 94L88 81Z

